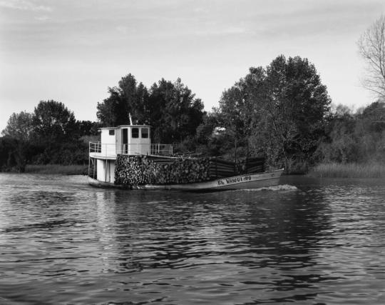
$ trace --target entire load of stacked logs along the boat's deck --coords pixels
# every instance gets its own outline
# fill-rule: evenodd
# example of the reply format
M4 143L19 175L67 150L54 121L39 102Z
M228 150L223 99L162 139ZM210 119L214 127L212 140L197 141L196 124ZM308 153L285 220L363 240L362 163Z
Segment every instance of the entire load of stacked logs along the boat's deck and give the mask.
M264 164L265 159L263 158L233 162L222 158L118 155L115 183L123 186L188 184L262 172Z

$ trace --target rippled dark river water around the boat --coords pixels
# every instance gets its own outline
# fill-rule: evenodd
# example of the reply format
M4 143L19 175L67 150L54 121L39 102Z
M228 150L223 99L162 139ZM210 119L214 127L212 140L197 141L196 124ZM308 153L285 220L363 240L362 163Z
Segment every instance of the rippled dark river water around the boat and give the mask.
M385 181L192 194L0 174L0 304L385 304Z

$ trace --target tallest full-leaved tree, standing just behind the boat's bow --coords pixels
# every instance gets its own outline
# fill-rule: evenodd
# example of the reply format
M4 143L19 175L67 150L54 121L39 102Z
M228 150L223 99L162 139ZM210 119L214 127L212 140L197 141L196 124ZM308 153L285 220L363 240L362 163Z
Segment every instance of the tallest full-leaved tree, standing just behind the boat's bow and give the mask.
M314 65L299 56L279 56L267 67L270 129L280 139L285 166L306 161L323 135L331 100Z

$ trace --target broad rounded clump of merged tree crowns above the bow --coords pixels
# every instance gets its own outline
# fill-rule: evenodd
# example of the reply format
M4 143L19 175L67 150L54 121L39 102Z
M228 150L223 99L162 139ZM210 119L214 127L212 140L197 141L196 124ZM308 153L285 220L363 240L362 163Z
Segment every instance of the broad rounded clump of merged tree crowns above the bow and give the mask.
M266 68L250 68L225 91L218 112L229 139L246 146L243 154L266 154L271 164L288 169L317 149L329 104L313 64L278 56Z

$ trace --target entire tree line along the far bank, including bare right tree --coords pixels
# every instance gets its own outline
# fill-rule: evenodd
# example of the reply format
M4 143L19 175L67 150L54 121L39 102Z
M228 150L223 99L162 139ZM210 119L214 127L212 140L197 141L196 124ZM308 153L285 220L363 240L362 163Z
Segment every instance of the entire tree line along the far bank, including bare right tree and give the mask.
M33 113L12 114L0 137L0 170L26 164L85 164L88 140L101 126L152 126L152 141L174 144L179 153L240 159L264 156L287 172L320 162L385 161L385 16L358 41L366 63L363 85L377 101L355 113L332 107L314 64L277 56L225 91L207 113L182 83L160 79L148 89L128 74L96 105L97 122L77 121L58 101L40 101ZM210 86L210 84L207 84Z

